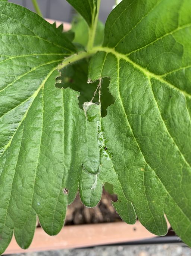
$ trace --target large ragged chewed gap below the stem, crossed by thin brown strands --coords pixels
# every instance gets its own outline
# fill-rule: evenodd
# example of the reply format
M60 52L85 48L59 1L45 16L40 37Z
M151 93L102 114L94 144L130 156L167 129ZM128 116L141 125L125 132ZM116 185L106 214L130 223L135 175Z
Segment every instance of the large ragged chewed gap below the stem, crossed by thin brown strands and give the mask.
M88 62L86 60L81 60L78 63L72 64L64 69L60 70L61 77L58 80L61 82L56 84L57 88L72 88L75 91L79 91L79 107L83 109L83 103L89 102L94 92L99 84L96 81L92 84L87 84L88 77ZM101 116L105 117L107 115L107 107L115 102L115 98L109 93L109 83L110 78L103 78L101 81ZM94 103L98 103L99 96L98 91L95 94Z

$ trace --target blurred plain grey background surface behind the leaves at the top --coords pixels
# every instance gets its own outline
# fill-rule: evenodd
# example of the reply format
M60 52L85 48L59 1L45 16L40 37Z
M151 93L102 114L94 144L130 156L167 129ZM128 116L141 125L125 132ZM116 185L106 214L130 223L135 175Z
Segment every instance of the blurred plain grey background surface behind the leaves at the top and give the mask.
M9 2L20 4L34 11L31 0L8 0ZM76 0L80 1L80 0ZM49 19L71 22L73 10L66 0L38 0L43 16ZM107 16L112 11L115 0L102 0L100 6L100 19L105 22Z

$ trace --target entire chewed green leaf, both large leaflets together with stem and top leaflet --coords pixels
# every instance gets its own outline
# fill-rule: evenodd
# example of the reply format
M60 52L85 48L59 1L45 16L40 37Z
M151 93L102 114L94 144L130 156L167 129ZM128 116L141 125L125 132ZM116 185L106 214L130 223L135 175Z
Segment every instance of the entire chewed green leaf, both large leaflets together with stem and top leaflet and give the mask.
M69 2L95 32L100 1ZM124 221L138 216L164 235L166 215L191 245L190 13L190 0L123 0L107 19L103 46L76 54L60 29L0 1L0 253L13 232L29 246L37 215L57 234L78 183L88 207L108 182ZM96 51L89 78L110 77L115 97L104 118L96 104L83 112L79 93L66 88L81 91L81 105L90 101L97 84L87 84L87 66ZM58 64L81 56L88 58L62 70L66 89L56 88ZM104 106L112 103L105 91Z

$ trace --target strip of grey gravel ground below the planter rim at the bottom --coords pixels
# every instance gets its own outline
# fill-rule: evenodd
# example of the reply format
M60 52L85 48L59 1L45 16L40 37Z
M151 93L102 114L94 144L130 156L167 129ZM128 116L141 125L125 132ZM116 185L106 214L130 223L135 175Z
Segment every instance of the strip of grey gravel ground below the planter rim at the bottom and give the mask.
M57 250L9 256L191 256L191 248L176 244L103 246L91 249Z

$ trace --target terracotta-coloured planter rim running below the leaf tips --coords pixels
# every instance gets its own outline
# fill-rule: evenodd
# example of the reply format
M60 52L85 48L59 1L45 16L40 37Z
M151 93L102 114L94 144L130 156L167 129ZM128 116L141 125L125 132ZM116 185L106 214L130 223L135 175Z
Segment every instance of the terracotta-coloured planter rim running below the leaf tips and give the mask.
M155 235L147 231L138 221L135 225L113 222L65 226L55 237L50 237L42 228L37 228L29 249L21 249L13 237L4 254L91 247L152 237L155 237Z

